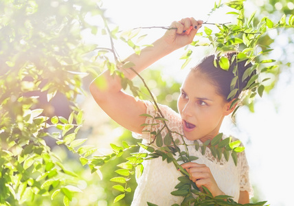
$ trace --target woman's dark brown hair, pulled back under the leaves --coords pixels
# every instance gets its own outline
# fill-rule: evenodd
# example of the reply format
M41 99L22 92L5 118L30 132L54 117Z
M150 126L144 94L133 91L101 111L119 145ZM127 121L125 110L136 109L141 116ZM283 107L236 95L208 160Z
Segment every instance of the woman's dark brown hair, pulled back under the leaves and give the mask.
M201 60L201 62L198 65L196 65L196 67L191 69L192 71L201 71L201 73L205 74L208 78L210 78L212 80L212 83L216 86L218 93L222 95L223 98L225 98L225 100L227 100L227 97L231 92L231 80L233 80L235 76L238 76L236 85L233 88L238 89L238 91L234 96L229 98L227 102L234 98L239 98L240 93L247 86L247 83L250 80L251 76L255 74L255 72L251 72L251 75L247 76L247 78L245 78L245 80L242 81L242 76L244 72L250 67L252 67L252 65L251 63L245 65L247 60L242 60L240 62L238 60L237 65L236 55L236 52L228 52L224 55L230 63L228 70L220 68L220 65L218 64L220 57L216 58L215 55L210 55L203 58L203 60ZM215 65L217 65L217 67L215 67ZM234 73L234 69L237 69L238 71Z

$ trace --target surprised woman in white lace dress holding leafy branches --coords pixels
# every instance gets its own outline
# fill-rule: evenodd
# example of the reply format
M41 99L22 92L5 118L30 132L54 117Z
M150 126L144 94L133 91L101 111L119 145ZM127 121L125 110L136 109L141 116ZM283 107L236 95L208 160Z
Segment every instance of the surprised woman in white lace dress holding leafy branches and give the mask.
M196 21L193 18L174 21L170 27L177 28L177 30L168 30L153 43L153 47L142 49L140 55L133 54L125 62L133 62L135 66L132 69L139 73L170 52L192 43L202 24L203 21ZM231 55L228 55L228 58L230 57ZM234 68L234 64L231 64L231 67ZM239 69L242 72L247 69L244 62L238 67L242 67ZM170 130L176 132L172 138L179 139L177 141L179 148L183 146L183 141L189 145L194 144L194 141L201 144L207 139L213 139L218 135L223 118L234 111L234 106L231 107L232 101L227 100L230 91L227 89L229 87L227 84L229 85L231 79L234 78L234 74L231 72L232 68L228 72L223 71L214 67L214 56L205 58L201 64L190 71L183 82L178 100L179 114L167 106L159 105L164 118L168 119L166 124ZM218 72L214 73L216 69L221 70L220 73L226 73L219 76ZM135 72L131 69L122 69L122 71L128 79L135 77ZM99 81L106 82L106 88L100 88L98 86L100 84L97 84ZM242 91L246 85L238 86ZM132 95L124 93L121 87L121 78L110 76L109 71L105 71L92 82L90 91L99 106L115 122L137 133L146 144L155 138L150 133L160 130L164 126L161 121L158 121L156 126L146 126L145 128L141 126L144 123L154 121L154 119L140 115L148 113L155 117L158 113L157 109L149 102L135 100ZM238 98L238 93L233 98ZM164 137L166 133L168 131L164 128L161 135ZM183 163L182 167L187 170L190 179L196 183L197 187L207 187L213 196L227 194L233 196L238 203L249 203L251 186L248 177L249 167L244 152L238 155L236 167L232 159L229 161L214 159L210 150L206 150L202 155L200 150L197 151L192 146L188 149L190 155L199 157L199 159ZM179 183L177 179L179 176L181 176L181 172L166 161L161 159L146 161L142 177L138 180L132 205L147 205L147 201L160 206L180 204L183 198L170 194L174 191L174 186Z

